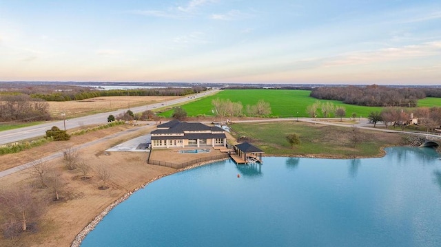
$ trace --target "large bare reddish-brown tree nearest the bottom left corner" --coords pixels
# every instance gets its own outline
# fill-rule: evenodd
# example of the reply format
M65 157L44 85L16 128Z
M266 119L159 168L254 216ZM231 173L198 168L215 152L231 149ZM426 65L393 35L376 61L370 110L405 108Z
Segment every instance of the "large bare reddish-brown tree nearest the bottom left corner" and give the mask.
M10 226L21 231L28 230L28 223L37 220L44 208L43 202L32 196L29 186L3 191L0 204L0 211L9 220Z

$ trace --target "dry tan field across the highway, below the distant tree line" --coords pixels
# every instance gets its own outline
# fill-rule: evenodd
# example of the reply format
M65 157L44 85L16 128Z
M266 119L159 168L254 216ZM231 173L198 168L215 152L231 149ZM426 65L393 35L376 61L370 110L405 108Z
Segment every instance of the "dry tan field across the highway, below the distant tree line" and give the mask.
M112 96L65 102L51 101L48 102L48 104L52 118L62 119L62 113L65 113L65 118L76 118L99 112L128 109L141 105L152 105L174 98L179 98L179 96Z

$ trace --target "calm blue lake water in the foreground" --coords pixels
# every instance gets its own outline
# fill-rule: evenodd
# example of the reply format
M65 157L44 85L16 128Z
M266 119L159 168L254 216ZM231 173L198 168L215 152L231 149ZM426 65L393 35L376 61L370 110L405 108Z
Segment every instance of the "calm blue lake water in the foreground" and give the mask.
M82 246L441 246L441 160L215 162L152 182Z

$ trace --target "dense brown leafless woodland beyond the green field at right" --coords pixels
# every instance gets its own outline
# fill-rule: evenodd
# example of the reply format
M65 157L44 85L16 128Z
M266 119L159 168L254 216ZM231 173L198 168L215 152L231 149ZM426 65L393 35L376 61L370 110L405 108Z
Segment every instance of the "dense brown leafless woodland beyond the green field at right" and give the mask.
M396 88L370 85L366 87L316 87L311 97L323 100L341 100L350 105L376 107L416 107L419 99L426 98L423 89Z

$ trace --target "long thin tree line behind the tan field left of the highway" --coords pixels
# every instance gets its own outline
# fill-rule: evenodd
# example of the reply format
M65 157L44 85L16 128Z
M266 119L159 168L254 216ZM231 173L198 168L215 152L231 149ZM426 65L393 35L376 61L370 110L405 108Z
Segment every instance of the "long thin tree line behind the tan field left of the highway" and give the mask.
M188 94L198 94L207 90L205 87L167 87L167 88L151 88L151 89L78 89L68 91L57 91L49 93L31 94L32 98L41 98L46 101L70 101L85 100L100 96L185 96Z

